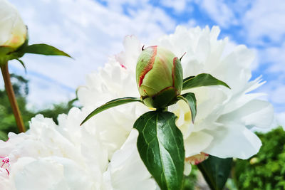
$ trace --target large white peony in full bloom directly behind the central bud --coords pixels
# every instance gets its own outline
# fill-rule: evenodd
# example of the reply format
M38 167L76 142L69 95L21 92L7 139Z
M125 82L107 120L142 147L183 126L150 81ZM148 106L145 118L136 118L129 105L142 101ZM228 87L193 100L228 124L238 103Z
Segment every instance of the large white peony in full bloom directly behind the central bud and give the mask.
M185 102L177 102L169 109L178 116L177 126L185 139L186 157L198 154L197 161L202 152L241 159L257 154L261 141L250 128L269 127L273 117L272 105L257 100L261 94L249 93L263 84L260 78L249 81L253 51L246 46L234 46L227 38L218 40L218 35L218 27L209 30L178 26L175 33L151 44L163 46L178 57L186 52L182 58L184 78L210 73L232 88L209 86L183 92L195 93L197 97L194 124ZM79 100L89 112L108 100L140 96L135 85L135 65L142 44L134 36L127 36L124 47L125 52L110 58L98 73L88 75L86 87L78 91ZM122 105L91 119L97 121L94 127L104 134L100 138L109 144L109 157L128 137L138 116L146 111L139 103Z

